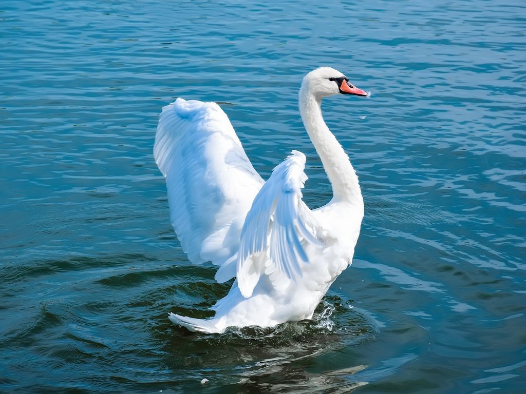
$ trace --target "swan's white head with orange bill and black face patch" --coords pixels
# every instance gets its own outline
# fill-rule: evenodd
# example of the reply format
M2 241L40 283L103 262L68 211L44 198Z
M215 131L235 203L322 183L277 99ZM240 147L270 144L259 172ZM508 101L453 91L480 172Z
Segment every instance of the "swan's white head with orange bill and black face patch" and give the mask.
M358 89L349 82L349 78L340 71L330 67L320 67L310 71L301 84L301 91L307 92L317 99L337 94L367 97L366 91Z

